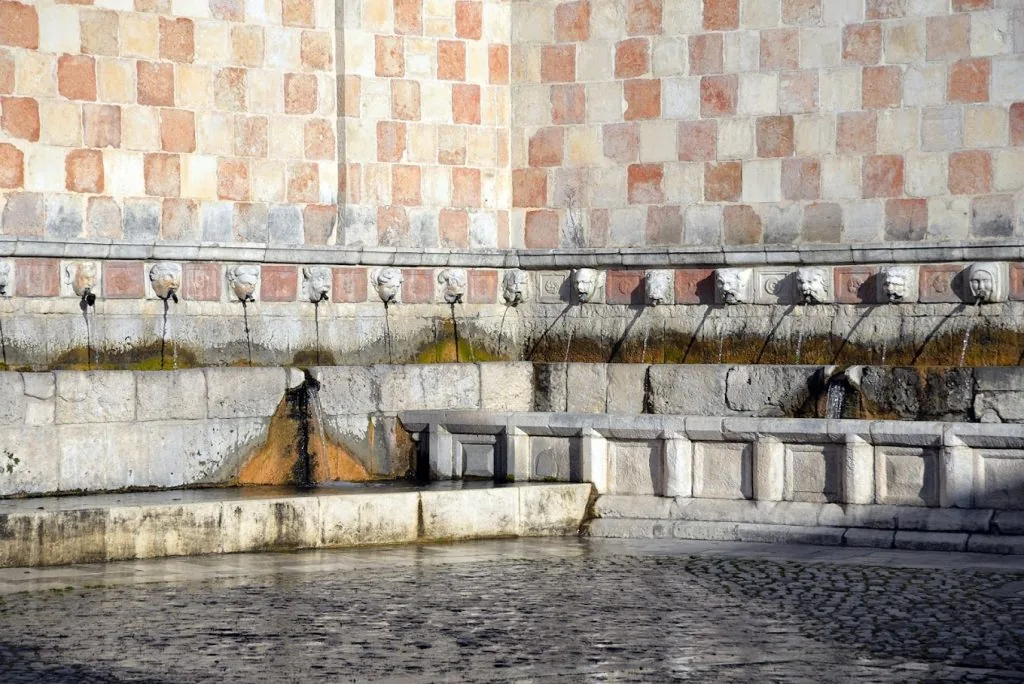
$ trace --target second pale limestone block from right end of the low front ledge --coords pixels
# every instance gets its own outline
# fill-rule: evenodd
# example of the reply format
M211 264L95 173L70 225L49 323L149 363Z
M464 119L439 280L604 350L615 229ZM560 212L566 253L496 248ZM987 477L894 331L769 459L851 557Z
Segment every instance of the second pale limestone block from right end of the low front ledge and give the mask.
M427 540L513 537L518 533L518 487L422 491Z

